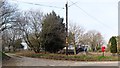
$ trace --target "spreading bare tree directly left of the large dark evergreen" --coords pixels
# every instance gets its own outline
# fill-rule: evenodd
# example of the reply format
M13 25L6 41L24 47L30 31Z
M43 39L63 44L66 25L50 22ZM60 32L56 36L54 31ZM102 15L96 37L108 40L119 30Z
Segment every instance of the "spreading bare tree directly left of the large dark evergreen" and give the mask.
M42 19L43 13L41 11L29 10L28 12L23 12L18 18L20 22L16 23L23 32L22 37L24 41L35 53L39 53L41 50Z

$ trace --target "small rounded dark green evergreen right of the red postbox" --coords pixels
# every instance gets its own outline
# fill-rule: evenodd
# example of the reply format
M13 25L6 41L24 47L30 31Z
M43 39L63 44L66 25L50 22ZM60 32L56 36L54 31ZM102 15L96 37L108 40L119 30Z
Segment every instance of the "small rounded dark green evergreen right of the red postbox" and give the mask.
M111 53L117 53L117 41L116 41L116 37L112 36L109 40L110 43L110 52Z

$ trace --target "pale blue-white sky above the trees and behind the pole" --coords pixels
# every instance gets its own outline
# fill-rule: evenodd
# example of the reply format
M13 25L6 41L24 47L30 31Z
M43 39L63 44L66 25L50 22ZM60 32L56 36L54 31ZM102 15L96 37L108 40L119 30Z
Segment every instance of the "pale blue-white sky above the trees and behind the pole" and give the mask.
M62 8L65 8L67 1L68 5L71 5L68 8L69 24L75 23L86 31L99 31L106 42L111 36L118 35L119 0L9 0L10 3L17 4L21 11L37 9L46 14L54 10L64 19L65 9Z

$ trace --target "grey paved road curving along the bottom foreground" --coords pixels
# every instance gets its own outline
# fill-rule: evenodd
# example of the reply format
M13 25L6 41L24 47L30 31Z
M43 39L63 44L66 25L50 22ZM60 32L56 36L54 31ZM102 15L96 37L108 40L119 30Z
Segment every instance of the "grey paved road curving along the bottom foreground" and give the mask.
M118 66L117 61L81 62L29 58L8 54L12 58L3 62L3 66Z

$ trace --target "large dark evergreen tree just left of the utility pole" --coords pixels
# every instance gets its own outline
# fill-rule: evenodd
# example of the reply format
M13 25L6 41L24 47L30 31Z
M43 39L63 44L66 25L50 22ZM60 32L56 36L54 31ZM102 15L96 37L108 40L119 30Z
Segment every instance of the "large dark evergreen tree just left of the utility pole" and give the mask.
M47 14L42 23L42 47L45 51L56 53L65 46L65 24L63 18L54 11Z

